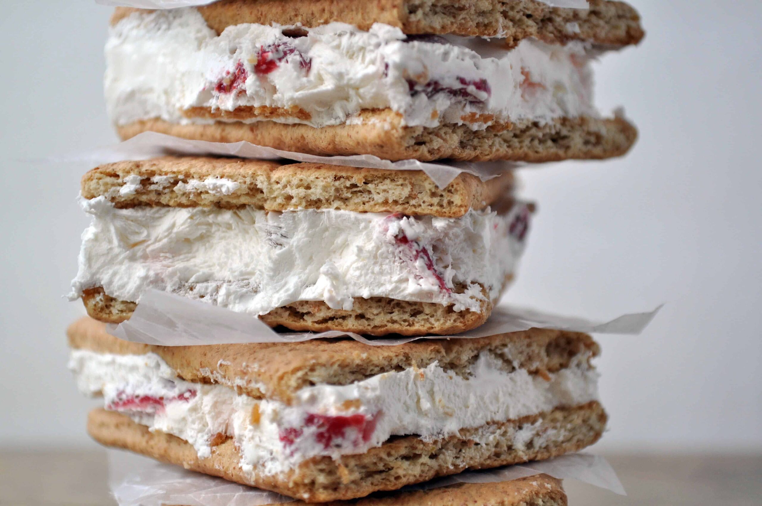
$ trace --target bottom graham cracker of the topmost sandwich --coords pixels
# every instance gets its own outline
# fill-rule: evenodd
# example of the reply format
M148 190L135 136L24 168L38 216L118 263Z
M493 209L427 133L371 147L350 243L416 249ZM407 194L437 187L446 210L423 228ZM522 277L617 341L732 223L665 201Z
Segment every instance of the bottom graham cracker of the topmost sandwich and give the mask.
M376 155L382 159L558 162L607 159L624 155L638 133L623 117L566 117L548 123L521 120L501 127L471 130L446 123L439 127L405 127L392 110L366 110L362 123L315 128L275 121L216 122L209 125L170 123L158 118L117 127L122 139L159 132L215 143L247 141L284 151L312 155Z

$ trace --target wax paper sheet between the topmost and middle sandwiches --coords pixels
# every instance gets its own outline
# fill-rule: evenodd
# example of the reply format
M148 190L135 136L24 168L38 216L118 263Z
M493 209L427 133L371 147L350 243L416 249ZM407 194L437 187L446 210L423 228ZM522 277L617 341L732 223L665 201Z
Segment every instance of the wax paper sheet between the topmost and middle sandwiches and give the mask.
M487 181L505 171L522 165L517 162L419 162L401 160L391 162L373 155L352 156L316 156L306 153L282 151L280 149L256 146L255 144L210 143L201 140L188 140L168 136L164 133L143 132L122 143L102 148L91 149L75 155L56 159L59 162L88 162L99 165L122 160L145 160L155 156L171 155L223 155L238 156L247 159L277 160L287 159L295 162L328 163L350 167L386 168L398 171L424 171L438 187L447 187L461 172L468 172Z

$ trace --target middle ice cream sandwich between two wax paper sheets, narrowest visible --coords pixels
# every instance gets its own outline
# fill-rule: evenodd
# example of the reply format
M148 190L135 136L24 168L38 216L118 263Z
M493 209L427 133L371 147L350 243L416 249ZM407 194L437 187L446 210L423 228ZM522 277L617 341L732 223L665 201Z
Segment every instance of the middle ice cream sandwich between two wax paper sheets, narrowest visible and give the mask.
M446 335L487 319L532 206L510 174L166 157L82 178L71 299L104 322L162 290L297 331Z

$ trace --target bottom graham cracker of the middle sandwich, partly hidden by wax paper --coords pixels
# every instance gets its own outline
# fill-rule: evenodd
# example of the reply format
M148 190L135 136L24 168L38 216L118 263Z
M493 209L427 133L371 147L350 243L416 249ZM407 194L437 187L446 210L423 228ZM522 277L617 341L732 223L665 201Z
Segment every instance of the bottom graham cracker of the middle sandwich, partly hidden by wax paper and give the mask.
M482 293L485 290L482 288ZM120 323L130 319L137 304L114 299L96 287L83 290L88 315L101 322ZM453 306L421 303L388 297L355 297L352 309L331 309L323 301L297 301L273 309L259 319L271 327L293 331L342 331L367 335L449 335L479 327L492 312L489 300L479 302L479 312L455 311ZM252 316L254 318L254 316Z

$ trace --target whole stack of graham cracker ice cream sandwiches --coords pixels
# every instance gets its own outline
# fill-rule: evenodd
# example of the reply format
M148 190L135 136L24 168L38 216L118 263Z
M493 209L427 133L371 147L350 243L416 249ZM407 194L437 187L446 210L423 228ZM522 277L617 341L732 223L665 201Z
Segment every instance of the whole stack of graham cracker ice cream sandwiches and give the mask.
M114 12L105 88L123 139L549 162L623 155L636 138L592 101L591 59L643 36L622 2L199 3ZM91 436L305 502L565 504L548 476L377 494L574 452L604 431L590 336L449 338L484 324L514 277L534 208L511 171L440 187L424 171L294 159L174 154L82 178L91 225L70 298L88 317L68 334L79 389L104 399ZM152 290L278 330L428 338L110 335Z

